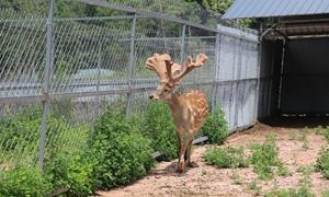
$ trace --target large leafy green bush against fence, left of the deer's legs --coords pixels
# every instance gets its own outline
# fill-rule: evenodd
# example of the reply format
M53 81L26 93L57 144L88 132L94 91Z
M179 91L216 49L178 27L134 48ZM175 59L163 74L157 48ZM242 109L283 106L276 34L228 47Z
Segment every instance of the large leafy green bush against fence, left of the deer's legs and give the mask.
M111 188L145 175L154 165L150 140L120 112L107 112L97 123L90 158L97 186Z

